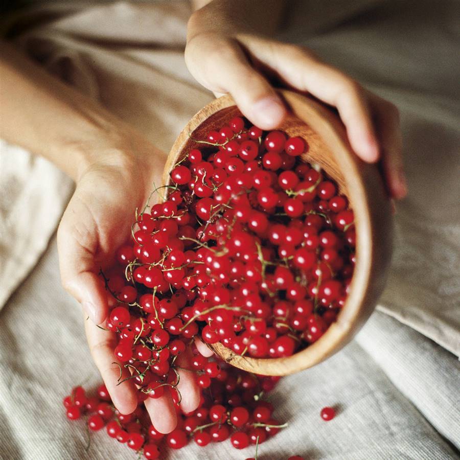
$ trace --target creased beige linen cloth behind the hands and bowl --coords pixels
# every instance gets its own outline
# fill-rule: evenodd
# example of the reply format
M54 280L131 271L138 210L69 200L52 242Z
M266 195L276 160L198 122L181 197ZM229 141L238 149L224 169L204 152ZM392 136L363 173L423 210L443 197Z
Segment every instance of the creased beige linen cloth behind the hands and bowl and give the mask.
M459 2L291 1L282 38L302 43L401 110L409 196L398 204L387 288L346 349L284 378L290 427L260 448L287 458L456 458L460 440ZM183 62L184 2L51 2L3 18L3 34L165 152L212 95ZM27 101L24 101L27 103ZM52 122L52 121L50 121ZM59 284L55 230L72 182L2 142L0 458L134 458L103 433L88 453L61 398L95 385L81 314ZM37 264L38 262L38 264ZM339 416L319 419L324 405ZM167 458L245 458L228 442Z

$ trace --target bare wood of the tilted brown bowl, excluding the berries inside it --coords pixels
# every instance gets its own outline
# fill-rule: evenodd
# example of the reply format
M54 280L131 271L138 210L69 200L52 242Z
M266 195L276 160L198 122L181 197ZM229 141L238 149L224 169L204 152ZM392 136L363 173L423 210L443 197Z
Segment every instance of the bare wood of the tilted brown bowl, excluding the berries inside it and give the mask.
M281 90L290 114L279 127L289 136L301 136L309 146L302 159L317 163L339 185L355 214L356 265L350 294L335 323L304 350L287 358L256 359L240 356L221 343L211 348L226 362L248 372L288 375L317 364L346 345L373 312L384 288L392 252L393 214L376 165L362 162L348 143L344 126L335 112L318 102ZM203 107L177 137L168 156L164 183L170 170L188 152L241 112L231 96Z

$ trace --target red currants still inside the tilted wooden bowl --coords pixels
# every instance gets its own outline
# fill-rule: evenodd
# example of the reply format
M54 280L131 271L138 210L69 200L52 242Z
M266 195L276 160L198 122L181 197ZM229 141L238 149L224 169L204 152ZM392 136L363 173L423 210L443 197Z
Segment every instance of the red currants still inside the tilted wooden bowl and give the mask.
M300 160L308 148L301 137L245 128L237 117L201 145L173 168L167 201L147 217L157 219L157 233L164 222L174 226L170 238L183 242L158 259L165 281L197 293L192 321L205 343L254 358L290 356L318 340L344 305L353 211L325 172ZM141 262L142 247L134 249Z

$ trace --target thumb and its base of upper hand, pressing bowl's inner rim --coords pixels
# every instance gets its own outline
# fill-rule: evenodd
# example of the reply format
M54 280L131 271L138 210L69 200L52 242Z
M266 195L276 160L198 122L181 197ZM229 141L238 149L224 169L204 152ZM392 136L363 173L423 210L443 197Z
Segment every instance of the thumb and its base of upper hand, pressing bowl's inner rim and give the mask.
M202 56L212 65L203 65ZM248 62L237 41L194 37L186 62L194 77L215 93L230 93L243 115L262 129L276 128L286 108L268 83Z

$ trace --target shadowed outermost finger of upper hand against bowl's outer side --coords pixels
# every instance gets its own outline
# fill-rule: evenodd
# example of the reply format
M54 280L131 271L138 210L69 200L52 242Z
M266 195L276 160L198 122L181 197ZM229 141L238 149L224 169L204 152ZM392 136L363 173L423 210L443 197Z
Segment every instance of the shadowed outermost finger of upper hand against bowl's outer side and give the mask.
M382 151L385 181L390 196L401 199L407 194L402 162L402 136L398 109L392 103L369 94Z

